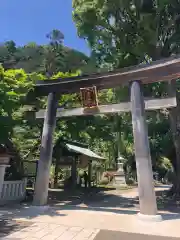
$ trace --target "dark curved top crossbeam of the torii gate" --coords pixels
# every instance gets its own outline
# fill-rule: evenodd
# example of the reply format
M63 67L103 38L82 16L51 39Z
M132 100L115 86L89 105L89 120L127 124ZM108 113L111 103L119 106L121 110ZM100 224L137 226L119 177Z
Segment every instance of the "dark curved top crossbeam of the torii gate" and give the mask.
M39 80L36 82L35 93L38 96L54 93L75 93L80 88L95 85L97 89L114 88L139 80L143 84L169 81L180 77L180 55L143 64L127 67L108 73L83 75L65 79Z

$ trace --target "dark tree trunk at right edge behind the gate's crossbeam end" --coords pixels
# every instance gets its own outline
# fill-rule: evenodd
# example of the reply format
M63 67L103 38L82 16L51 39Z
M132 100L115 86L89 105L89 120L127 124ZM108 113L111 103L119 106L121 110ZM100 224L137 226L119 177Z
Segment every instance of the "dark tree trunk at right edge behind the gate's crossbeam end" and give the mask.
M170 125L176 159L174 161L175 179L173 181L173 194L180 195L180 97L176 94L176 80L168 83L168 93L170 96L176 96L177 107L169 110Z

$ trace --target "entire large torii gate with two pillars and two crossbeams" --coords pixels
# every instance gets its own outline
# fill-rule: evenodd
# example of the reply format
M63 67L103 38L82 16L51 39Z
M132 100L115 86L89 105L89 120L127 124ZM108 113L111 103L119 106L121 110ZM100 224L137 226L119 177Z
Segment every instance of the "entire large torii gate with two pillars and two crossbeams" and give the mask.
M176 56L155 61L152 64L124 68L121 71L114 71L106 74L37 81L35 94L36 96L48 95L48 103L46 111L40 110L36 114L37 118L44 118L44 127L33 204L41 206L47 203L49 174L52 162L52 140L56 126L56 116L65 117L131 111L140 215L149 215L153 219L158 218L145 109L152 110L175 107L176 97L174 95L166 99L151 99L144 101L141 84L177 79L180 77L179 64L180 58ZM80 88L92 86L96 86L97 89L100 90L128 84L130 85L130 103L99 106L98 111L95 113L91 111L84 112L83 108L57 111L58 96L60 94L77 93Z

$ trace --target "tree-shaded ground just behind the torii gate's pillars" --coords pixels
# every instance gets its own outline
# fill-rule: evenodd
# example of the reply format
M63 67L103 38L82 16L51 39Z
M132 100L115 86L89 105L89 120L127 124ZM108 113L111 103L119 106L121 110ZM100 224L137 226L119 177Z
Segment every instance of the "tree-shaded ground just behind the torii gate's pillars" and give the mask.
M169 188L165 189L156 191L158 209L180 214L180 201L167 197ZM132 191L132 189L116 191L114 189L92 188L90 191L50 191L49 205L79 206L83 204L87 207L139 209L139 197L126 197L123 195L128 191Z

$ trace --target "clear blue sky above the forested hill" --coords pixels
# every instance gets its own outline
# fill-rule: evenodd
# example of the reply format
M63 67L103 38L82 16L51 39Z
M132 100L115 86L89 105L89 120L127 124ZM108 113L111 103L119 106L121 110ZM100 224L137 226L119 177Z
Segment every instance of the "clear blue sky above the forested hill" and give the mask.
M72 21L72 0L0 1L0 42L44 44L47 43L46 34L59 29L65 35L66 46L89 53L86 42L78 38Z

